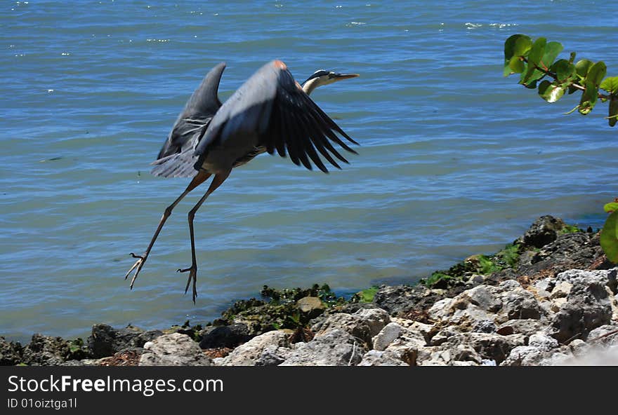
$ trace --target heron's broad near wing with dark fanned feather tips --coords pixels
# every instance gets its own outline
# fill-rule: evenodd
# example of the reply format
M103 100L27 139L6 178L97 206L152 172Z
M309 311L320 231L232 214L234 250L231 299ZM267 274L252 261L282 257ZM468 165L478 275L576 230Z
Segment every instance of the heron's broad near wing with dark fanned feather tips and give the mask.
M237 142L242 135L257 137L255 146L265 147L270 154L289 154L296 165L302 163L311 169L311 160L323 172L328 169L319 154L336 168L339 165L334 158L348 163L331 142L356 153L338 135L357 142L303 92L279 60L265 64L217 111L195 148L199 156L195 168L202 165L209 147L225 145L232 138Z

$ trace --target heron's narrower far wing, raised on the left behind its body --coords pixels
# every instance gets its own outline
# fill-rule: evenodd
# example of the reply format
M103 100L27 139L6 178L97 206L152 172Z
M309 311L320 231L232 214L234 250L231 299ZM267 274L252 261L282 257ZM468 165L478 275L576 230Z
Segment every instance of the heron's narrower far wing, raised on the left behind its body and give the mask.
M152 170L153 175L171 177L195 173L189 170L183 174L181 170L187 170L186 165L192 169L195 163L192 160L193 149L204 134L204 128L221 107L217 93L224 69L225 62L213 67L191 95L159 151L157 161L153 163L157 165ZM188 151L190 154L180 156Z

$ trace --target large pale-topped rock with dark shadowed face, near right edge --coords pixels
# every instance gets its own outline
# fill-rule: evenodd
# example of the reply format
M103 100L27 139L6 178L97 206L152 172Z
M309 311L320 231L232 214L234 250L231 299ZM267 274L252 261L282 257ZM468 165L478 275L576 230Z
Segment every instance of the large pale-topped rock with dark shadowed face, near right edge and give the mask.
M562 274L563 278L565 273ZM591 330L610 324L612 305L603 278L589 271L568 274L572 288L551 321L551 335L560 343L586 339Z

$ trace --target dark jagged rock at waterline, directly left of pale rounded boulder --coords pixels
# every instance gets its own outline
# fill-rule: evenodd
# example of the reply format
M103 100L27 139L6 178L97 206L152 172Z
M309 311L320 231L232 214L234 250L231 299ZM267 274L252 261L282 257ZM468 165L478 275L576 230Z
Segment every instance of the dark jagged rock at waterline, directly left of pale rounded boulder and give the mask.
M161 330L144 331L131 325L124 329L114 329L110 325L97 324L92 326L92 334L86 343L94 358L105 358L120 351L143 348L147 341L162 334Z

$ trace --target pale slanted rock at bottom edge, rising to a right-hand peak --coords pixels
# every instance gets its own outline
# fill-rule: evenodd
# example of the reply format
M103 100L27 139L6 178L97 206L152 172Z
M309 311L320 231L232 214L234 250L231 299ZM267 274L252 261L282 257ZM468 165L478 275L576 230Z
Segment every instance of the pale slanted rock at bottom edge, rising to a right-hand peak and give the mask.
M288 342L289 332L285 330L274 330L272 332L266 332L254 337L253 339L241 344L235 348L232 353L225 356L223 360L218 362L221 366L255 366L259 361L261 365L267 361L270 362L268 356L262 355L265 351L267 353L274 353L277 348L289 347ZM269 348L274 346L275 348ZM277 354L280 355L280 354Z

